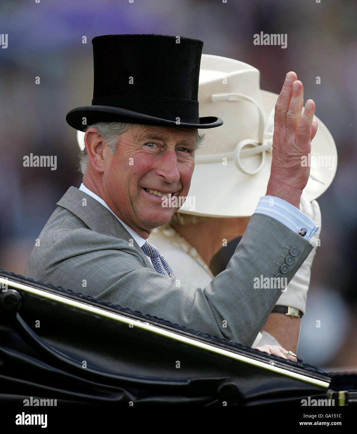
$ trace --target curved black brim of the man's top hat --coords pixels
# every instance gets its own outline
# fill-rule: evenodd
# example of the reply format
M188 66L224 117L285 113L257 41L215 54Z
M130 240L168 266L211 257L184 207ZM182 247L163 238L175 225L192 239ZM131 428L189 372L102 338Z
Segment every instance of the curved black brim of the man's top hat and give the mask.
M215 128L223 125L221 118L206 116L199 118L200 123L177 123L175 120L156 118L143 113L133 112L132 110L111 107L107 105L87 105L77 107L66 115L68 125L76 130L84 132L88 125L96 122L127 122L142 125L161 125L181 128Z

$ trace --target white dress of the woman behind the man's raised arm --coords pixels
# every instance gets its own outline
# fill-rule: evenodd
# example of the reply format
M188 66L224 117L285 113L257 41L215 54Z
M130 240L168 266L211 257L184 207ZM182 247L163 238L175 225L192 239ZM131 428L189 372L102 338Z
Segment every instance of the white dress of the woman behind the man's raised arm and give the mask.
M180 283L188 283L195 288L204 288L213 279L213 274L192 247L175 229L168 224L153 229L149 243L154 244L164 256ZM252 348L262 345L279 345L268 332L259 332Z

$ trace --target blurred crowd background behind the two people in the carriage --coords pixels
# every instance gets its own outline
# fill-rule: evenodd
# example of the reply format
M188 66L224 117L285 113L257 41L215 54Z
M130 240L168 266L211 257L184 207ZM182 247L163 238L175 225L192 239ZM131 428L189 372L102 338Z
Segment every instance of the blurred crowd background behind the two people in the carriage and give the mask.
M81 184L76 132L65 115L91 104L91 39L109 33L202 39L203 53L259 69L261 89L279 93L286 72L295 71L305 100L315 100L334 137L338 168L318 199L321 247L298 355L321 368L357 370L356 16L355 0L1 1L0 33L8 34L8 48L0 49L0 268L24 273L55 203ZM261 31L287 33L287 48L254 46L253 34ZM57 170L24 168L30 153L57 155Z

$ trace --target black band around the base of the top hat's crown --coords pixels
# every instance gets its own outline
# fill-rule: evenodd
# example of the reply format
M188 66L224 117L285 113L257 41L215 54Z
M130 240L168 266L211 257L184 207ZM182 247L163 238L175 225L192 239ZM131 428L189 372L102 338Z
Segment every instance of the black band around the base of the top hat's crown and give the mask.
M198 101L151 95L108 95L92 99L92 105L117 107L168 121L199 124Z

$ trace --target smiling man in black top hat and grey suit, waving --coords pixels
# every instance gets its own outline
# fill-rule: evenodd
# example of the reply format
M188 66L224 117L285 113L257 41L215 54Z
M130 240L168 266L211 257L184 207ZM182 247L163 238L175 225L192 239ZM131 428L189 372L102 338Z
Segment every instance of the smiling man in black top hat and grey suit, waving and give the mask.
M146 239L178 210L162 207L160 195L188 194L197 128L222 124L198 118L203 43L161 35L107 35L92 42L92 105L66 118L86 130L88 168L81 188L70 187L57 203L26 276L251 345L281 294L254 289L254 278L284 273L289 282L312 250L308 239L317 227L298 208L309 174L300 157L310 151L317 129L314 102L301 113L302 83L289 72L276 104L266 192L276 198L275 217L253 214L227 269L209 285L180 285ZM281 223L286 215L289 227ZM294 261L287 265L291 252Z

